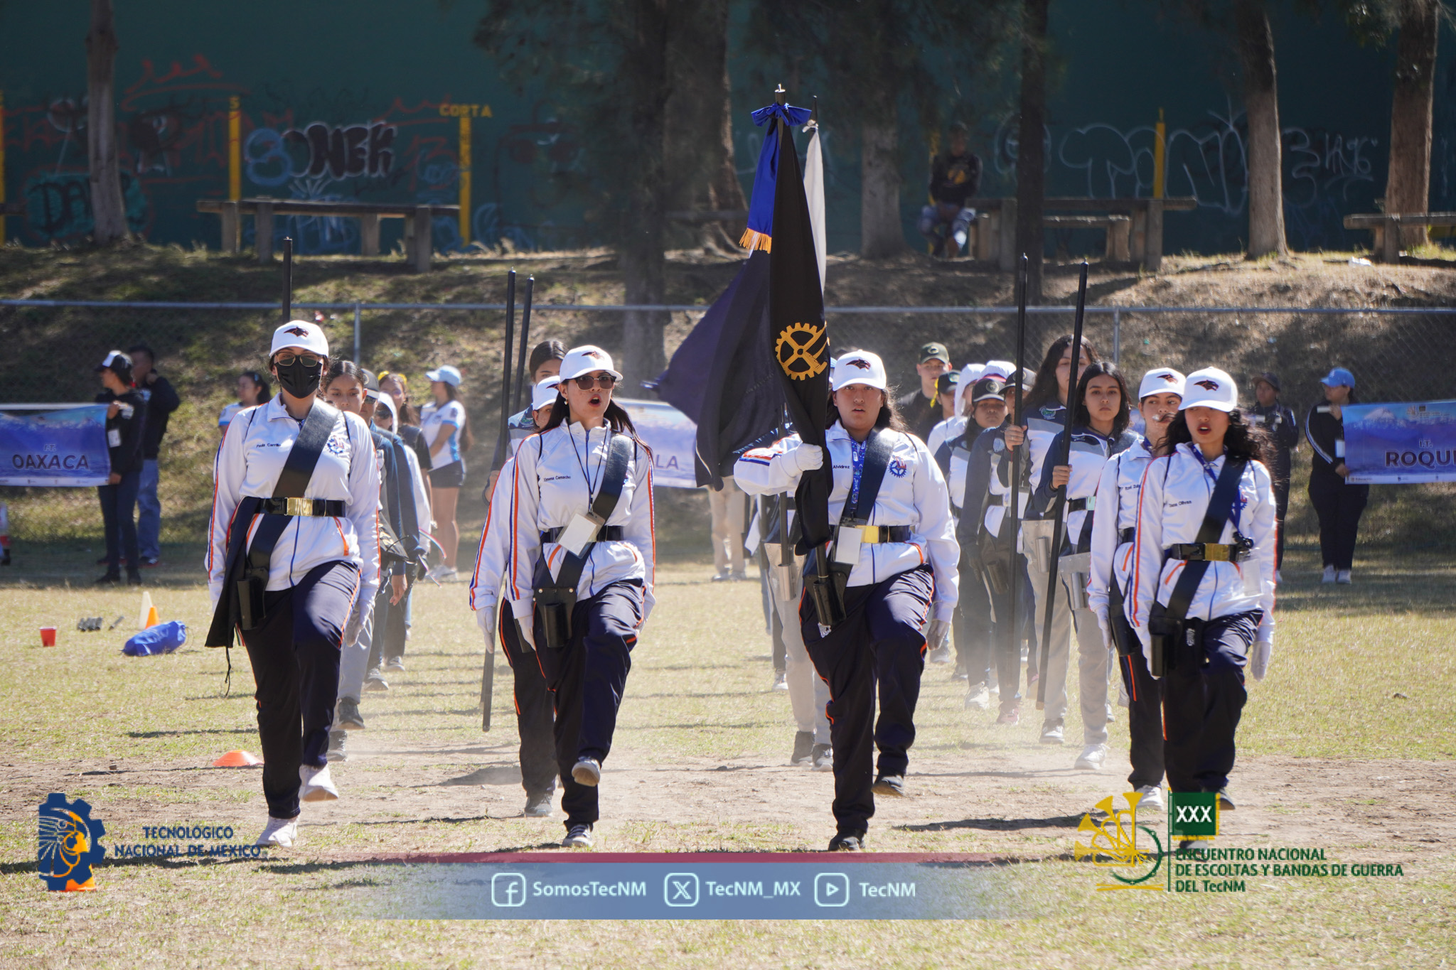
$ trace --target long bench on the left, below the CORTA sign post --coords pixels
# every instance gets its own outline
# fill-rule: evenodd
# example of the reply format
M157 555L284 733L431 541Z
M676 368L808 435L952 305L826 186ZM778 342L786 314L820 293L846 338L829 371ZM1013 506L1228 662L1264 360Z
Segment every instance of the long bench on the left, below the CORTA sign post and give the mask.
M430 272L431 225L434 217L459 218L459 205L411 205L408 202L322 202L313 199L198 199L198 212L215 212L223 218L223 252L242 249L242 220L253 217L253 249L258 262L272 260L272 221L275 215L317 215L357 218L360 221L360 252L379 256L379 221L405 220L405 260L416 273ZM422 244L421 244L422 243Z

